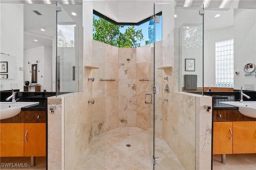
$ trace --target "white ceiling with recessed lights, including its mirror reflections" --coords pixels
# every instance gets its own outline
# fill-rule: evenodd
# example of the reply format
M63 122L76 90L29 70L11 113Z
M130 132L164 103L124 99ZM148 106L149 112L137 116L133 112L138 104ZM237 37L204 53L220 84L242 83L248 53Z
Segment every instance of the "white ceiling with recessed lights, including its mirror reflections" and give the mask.
M12 0L8 0L10 3ZM14 1L14 3L21 3L24 1ZM56 34L56 11L55 3L52 4L40 4L42 1L33 1L34 4L24 4L24 49L34 48L42 45L52 46L52 39ZM60 1L61 2L61 1ZM71 2L71 1L65 1ZM76 5L61 4L62 12L58 15L60 16L60 22L74 22L78 25L82 25L82 4L81 1L72 1ZM107 0L105 2L95 2L94 9L99 10L102 14L112 18L118 22L138 22L145 18L148 18L153 14L153 4L154 2L166 2L166 1L153 1L153 0L118 0L112 1ZM170 1L168 1L170 2ZM176 6L182 6L185 0L176 0ZM204 27L206 30L210 29L220 29L223 27L230 27L233 25L233 10L220 9L218 6L221 4L221 0L211 0L208 8L205 8L204 15ZM4 0L1 1L4 3ZM73 4L74 4L73 3ZM203 0L193 0L192 7L202 4ZM102 7L103 4L103 7ZM178 5L182 4L182 5ZM197 5L195 5L197 4ZM100 7L101 6L101 7ZM255 0L231 0L227 6L228 8L253 8L256 7ZM178 17L175 19L176 27L179 26L181 21L186 21L190 14L194 13L194 10L186 10L184 12L183 7L177 7L175 14ZM188 9L188 8L186 8ZM193 8L192 8L193 9ZM38 16L33 12L37 10L42 14ZM101 10L101 11L100 11ZM66 12L64 12L66 11ZM71 12L76 12L77 16L70 15ZM219 13L220 17L214 18L214 16ZM74 20L74 21L73 21ZM45 28L46 31L40 31L41 28ZM35 42L34 39L38 41Z

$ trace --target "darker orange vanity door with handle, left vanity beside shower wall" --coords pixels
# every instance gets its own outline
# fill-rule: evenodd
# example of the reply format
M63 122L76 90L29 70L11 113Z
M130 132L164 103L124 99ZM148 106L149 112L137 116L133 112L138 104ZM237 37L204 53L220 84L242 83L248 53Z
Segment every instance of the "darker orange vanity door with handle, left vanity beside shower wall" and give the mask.
M24 156L46 156L46 123L24 123Z

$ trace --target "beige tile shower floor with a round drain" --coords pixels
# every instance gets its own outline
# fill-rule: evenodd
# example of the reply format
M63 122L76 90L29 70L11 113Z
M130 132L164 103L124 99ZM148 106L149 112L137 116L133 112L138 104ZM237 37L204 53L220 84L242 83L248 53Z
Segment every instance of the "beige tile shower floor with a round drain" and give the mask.
M153 139L153 138L152 138ZM152 170L148 152L148 131L138 127L118 127L93 137L76 170ZM130 144L130 147L126 147ZM184 170L161 136L156 137L158 170Z

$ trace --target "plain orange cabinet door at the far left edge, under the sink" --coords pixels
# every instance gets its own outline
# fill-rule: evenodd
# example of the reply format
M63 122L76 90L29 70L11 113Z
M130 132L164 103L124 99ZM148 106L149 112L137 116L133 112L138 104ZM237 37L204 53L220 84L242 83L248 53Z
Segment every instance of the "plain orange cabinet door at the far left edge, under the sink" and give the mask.
M24 156L24 123L0 123L0 156Z

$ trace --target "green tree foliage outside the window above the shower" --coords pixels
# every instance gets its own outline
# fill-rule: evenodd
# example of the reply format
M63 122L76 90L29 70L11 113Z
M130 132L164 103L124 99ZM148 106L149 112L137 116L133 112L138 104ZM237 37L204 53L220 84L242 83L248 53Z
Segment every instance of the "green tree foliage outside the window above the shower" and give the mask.
M131 25L126 28L124 33L121 33L120 29L122 27L124 25L115 25L103 18L99 17L97 20L93 17L93 39L116 47L140 47L140 43L143 41L142 29L137 29L134 25ZM148 41L146 41L146 44L148 44Z

